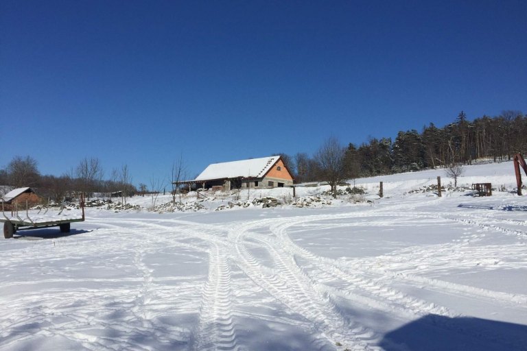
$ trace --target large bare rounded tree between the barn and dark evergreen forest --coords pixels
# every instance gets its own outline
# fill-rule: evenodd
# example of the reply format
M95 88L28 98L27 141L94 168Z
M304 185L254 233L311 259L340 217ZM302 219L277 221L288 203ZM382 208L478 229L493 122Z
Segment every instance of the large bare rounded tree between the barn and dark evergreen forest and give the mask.
M337 184L346 177L344 156L346 149L335 137L327 138L315 155L321 176L331 186L333 197L337 197Z

